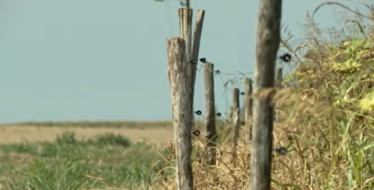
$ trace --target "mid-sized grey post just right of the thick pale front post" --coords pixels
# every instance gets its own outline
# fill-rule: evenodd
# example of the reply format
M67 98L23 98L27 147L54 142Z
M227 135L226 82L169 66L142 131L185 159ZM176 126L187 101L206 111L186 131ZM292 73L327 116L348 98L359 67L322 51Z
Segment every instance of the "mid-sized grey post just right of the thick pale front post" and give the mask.
M214 100L214 76L212 63L204 63L204 84L205 84L205 129L206 129L206 163L208 165L215 165L216 156L216 139L217 131L215 129L215 100Z

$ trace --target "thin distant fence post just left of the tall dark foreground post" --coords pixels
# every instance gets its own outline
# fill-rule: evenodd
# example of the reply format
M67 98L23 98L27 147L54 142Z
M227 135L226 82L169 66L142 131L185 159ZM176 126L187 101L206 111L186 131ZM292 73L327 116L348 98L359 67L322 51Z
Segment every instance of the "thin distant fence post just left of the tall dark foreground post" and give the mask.
M252 79L244 78L245 141L252 140Z

